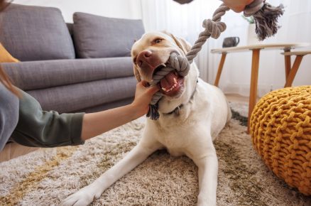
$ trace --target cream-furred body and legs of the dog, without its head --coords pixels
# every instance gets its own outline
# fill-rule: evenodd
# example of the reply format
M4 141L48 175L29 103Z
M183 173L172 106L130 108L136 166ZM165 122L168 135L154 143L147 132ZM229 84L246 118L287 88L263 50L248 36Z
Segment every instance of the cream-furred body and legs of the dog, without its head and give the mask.
M222 91L203 80L197 82L198 76L197 66L192 63L185 77L185 91L177 99L163 97L160 100L160 119L147 120L138 145L91 185L67 197L62 205L89 205L160 148L167 148L173 156L185 155L194 161L199 175L197 205L216 205L218 162L212 141L231 118L231 113ZM183 107L179 116L163 114L172 112L180 104Z

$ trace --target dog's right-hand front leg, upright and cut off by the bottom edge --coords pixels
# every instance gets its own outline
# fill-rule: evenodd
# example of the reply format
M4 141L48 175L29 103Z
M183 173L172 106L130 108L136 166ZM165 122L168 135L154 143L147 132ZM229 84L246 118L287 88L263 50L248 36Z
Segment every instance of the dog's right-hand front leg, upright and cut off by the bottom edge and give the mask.
M199 195L197 205L214 206L217 199L218 160L214 146L209 147L206 156L194 160L199 170Z

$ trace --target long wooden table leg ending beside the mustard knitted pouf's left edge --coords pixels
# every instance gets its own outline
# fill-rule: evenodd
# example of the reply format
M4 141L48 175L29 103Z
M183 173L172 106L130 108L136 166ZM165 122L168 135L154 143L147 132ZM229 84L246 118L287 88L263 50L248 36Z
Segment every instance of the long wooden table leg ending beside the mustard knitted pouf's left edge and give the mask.
M251 60L251 91L249 93L249 119L247 122L247 133L249 134L249 124L251 122L251 112L256 104L257 85L258 85L258 68L259 68L260 49L253 50L253 57Z

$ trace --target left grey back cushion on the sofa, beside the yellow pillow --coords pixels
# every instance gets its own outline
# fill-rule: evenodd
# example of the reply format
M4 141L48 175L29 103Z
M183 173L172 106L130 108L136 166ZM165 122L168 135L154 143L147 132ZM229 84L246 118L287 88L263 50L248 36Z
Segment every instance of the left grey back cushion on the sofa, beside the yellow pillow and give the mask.
M0 42L21 61L75 58L59 9L11 4L0 13Z

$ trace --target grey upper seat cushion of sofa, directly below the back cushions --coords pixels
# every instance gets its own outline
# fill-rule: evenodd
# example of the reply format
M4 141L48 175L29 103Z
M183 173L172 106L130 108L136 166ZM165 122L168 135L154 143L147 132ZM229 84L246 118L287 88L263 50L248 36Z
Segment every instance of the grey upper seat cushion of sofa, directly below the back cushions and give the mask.
M133 77L133 63L129 57L43 60L2 65L14 84L21 90L38 90L81 82Z

